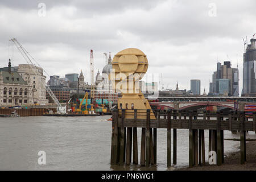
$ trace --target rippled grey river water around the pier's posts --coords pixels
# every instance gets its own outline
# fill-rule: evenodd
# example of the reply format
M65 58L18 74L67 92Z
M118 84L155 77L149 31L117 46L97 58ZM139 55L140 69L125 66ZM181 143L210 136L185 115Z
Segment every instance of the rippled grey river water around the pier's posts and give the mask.
M158 129L157 166L110 167L112 122L97 117L0 118L0 170L167 170L167 132ZM248 138L255 138L253 132ZM224 138L239 138L224 131ZM138 129L140 154L141 129ZM237 151L240 142L224 140L224 152ZM208 131L205 131L208 153ZM46 165L38 164L38 152L46 152ZM139 155L140 158L140 155ZM188 130L177 130L177 165L188 166Z

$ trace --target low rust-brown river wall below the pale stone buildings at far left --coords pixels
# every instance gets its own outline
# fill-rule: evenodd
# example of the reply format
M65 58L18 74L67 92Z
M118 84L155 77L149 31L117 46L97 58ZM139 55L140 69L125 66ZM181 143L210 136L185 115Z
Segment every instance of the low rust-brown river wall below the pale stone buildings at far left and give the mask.
M30 108L30 109L0 109L0 114L11 114L13 111L16 111L19 116L30 116L30 115L43 115L49 109L45 108ZM51 110L56 112L56 108L51 108Z

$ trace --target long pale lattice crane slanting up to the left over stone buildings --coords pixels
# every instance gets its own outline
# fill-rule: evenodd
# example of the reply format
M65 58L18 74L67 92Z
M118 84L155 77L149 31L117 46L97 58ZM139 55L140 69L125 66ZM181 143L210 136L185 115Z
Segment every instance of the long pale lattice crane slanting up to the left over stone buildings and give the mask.
M34 60L37 63L37 61L34 59L34 57L32 57L30 55L30 53L18 42L17 39L13 38L10 41L15 44L15 46L18 48L19 52L22 54L24 59L27 61L28 65L30 65L31 69L34 68L34 69L32 69L34 74L38 75L38 73L35 72L35 70L36 70L35 64L33 64L33 62L32 62L32 60ZM41 67L41 66L39 65L39 67ZM43 71L48 75L48 73L44 69L43 69ZM55 94L53 94L51 88L49 88L48 85L46 85L46 91L48 92L49 96L52 98L52 101L57 105L57 112L61 113L61 114L65 114L66 113L66 109L65 109L66 107L61 106L60 102L57 100Z

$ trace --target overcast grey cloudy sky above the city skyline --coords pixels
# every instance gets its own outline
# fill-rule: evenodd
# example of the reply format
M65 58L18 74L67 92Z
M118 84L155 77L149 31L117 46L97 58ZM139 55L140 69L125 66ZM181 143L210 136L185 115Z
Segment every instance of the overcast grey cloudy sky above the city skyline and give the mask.
M113 58L134 47L147 55L148 73L162 73L164 87L175 89L178 81L179 89L189 90L190 80L200 79L203 94L217 59L229 57L232 67L238 60L241 94L242 38L249 41L256 32L255 7L255 0L1 0L0 67L9 57L14 66L26 63L9 46L16 38L49 75L82 70L90 82L90 49L96 75L104 52Z

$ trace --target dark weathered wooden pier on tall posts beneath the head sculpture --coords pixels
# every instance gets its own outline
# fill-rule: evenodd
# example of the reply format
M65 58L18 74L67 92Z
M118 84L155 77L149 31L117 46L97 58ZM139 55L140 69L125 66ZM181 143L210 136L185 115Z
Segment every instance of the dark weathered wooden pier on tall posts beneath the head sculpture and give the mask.
M129 113L134 114L133 119L126 119ZM146 115L146 119L137 119L139 113ZM216 152L218 165L224 163L224 130L240 131L241 164L245 163L245 133L256 131L256 113L253 114L253 121L247 121L243 111L197 113L188 110L156 110L154 113L157 119L150 119L150 110L134 109L133 112L129 112L126 109L115 109L113 111L111 164L130 164L132 148L133 163L138 164L137 129L140 127L142 128L141 166L156 164L158 128L167 129L167 167L171 166L171 129L173 129L173 164L177 163L177 129L188 129L189 132L189 167L205 164L204 130L209 130L209 151Z

